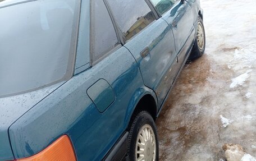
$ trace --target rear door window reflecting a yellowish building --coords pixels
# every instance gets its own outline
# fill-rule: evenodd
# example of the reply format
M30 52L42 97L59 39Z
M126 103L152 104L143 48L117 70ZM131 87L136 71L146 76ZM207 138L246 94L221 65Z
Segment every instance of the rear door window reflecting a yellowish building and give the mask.
M156 20L145 0L107 1L126 40L129 40Z

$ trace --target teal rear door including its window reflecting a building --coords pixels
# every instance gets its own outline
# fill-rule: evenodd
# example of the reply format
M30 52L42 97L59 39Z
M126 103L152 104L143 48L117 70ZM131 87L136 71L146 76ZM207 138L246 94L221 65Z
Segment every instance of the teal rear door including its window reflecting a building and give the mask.
M171 27L158 19L144 0L108 0L125 47L139 65L144 84L156 91L162 104L175 79L177 64Z

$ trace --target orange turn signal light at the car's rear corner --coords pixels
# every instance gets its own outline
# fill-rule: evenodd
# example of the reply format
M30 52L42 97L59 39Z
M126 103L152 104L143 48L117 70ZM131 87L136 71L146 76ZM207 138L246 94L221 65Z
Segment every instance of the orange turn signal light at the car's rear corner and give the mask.
M76 161L72 143L67 135L61 136L51 145L32 157L17 159L17 161Z

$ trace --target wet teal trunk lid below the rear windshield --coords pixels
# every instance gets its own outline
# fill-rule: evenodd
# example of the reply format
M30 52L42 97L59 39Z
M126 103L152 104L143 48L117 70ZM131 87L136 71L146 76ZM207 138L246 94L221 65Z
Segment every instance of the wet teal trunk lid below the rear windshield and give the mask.
M30 93L0 98L0 160L15 159L12 154L8 128L30 108L60 87L63 82Z

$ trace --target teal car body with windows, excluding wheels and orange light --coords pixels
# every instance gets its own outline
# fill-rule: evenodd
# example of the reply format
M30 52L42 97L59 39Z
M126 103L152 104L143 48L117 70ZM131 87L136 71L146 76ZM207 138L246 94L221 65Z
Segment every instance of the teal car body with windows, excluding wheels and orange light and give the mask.
M157 118L198 17L198 0L0 2L0 160L63 135L76 160L125 159L134 117Z

